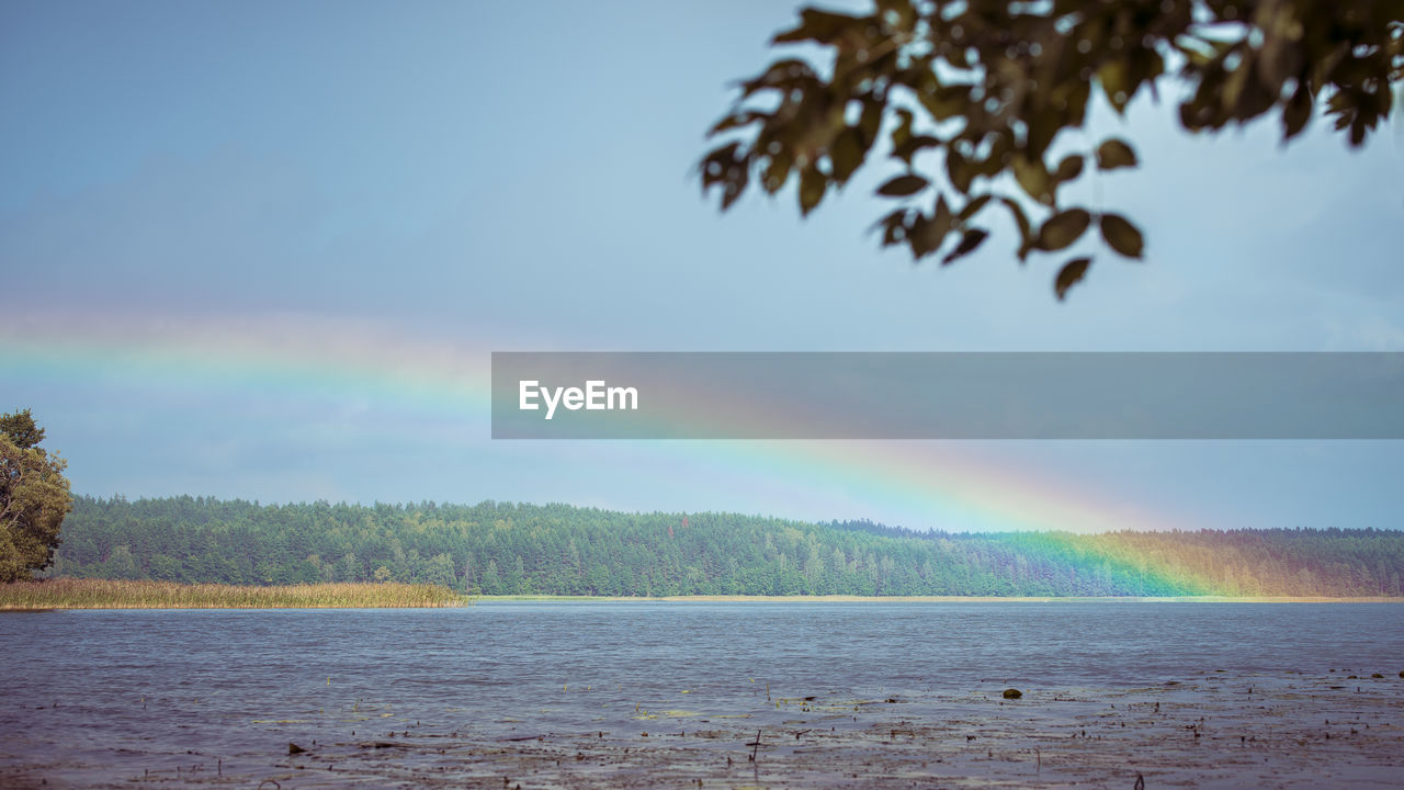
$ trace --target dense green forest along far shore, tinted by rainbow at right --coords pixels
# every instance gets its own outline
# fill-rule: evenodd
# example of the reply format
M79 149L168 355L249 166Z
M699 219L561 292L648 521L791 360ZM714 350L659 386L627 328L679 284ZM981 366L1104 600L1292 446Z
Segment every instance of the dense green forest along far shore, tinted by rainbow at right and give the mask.
M569 505L79 498L56 576L487 595L1404 595L1404 533L918 533Z

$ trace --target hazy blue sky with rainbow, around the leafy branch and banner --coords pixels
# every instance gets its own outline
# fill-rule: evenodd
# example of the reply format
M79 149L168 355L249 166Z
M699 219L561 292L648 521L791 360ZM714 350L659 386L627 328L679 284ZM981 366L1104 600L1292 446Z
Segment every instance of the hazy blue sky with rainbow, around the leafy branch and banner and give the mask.
M1398 118L1094 107L1147 254L1064 302L1009 228L879 250L880 170L719 214L703 132L797 7L0 0L0 410L94 496L1401 526L1398 441L491 440L494 350L1404 351Z

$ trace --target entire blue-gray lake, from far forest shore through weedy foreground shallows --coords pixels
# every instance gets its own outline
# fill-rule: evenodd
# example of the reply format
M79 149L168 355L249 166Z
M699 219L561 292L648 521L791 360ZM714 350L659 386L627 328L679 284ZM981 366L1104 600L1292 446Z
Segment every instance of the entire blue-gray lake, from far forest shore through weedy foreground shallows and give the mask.
M45 611L0 614L0 784L14 786L251 786L264 777L281 787L414 786L439 776L504 776L524 787L538 776L538 786L649 786L680 780L689 765L698 780L730 786L739 782L724 773L737 770L733 763L746 763L761 784L838 784L847 775L824 768L826 744L834 753L882 752L889 730L897 746L913 732L900 765L918 784L922 770L934 770L922 755L948 742L948 783L995 776L995 748L984 744L1022 766L1007 766L1011 776L1033 770L1036 752L1031 776L1057 783L1060 775L1045 772L1064 756L1067 776L1095 780L1105 768L1091 745L1081 746L1085 755L1059 745L1078 738L1080 724L1088 738L1088 723L1116 727L1106 717L1137 711L1141 718L1119 721L1115 734L1130 723L1147 734L1144 744L1104 752L1154 748L1155 732L1177 742L1192 735L1196 745L1186 749L1210 741L1245 748L1248 734L1264 744L1311 738L1309 725L1330 735L1335 725L1316 721L1313 706L1324 706L1323 721L1331 711L1338 721L1353 715L1359 738L1373 723L1367 735L1383 739L1362 741L1359 770L1331 776L1362 786L1404 776L1386 770L1398 768L1390 744L1404 755L1397 604L512 602ZM1370 678L1376 672L1384 678ZM1005 703L1005 687L1025 697ZM1193 713L1205 710L1237 730L1196 724ZM1259 718L1276 724L1254 724ZM816 732L833 741L814 742ZM288 756L289 742L307 752ZM1338 770L1356 759L1338 753L1349 742L1344 730L1335 744L1324 738L1323 756L1297 759L1294 769L1285 751L1279 784L1310 786L1323 770ZM677 759L650 768L649 751L664 744ZM1365 756L1382 746L1384 758ZM972 762L986 753L990 766ZM578 770L552 768L562 755ZM1141 762L1136 772L1185 777L1178 758ZM986 773L972 776L977 768ZM854 776L847 782L866 784ZM1230 772L1226 782L1243 776ZM1123 779L1108 782L1129 787Z

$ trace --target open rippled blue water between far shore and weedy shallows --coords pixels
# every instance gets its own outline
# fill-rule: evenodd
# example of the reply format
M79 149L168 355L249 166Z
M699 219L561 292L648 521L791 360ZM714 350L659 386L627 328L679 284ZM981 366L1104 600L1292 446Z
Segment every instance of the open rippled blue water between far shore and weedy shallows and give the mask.
M776 706L781 697L847 706L1004 686L1134 689L1216 671L1397 672L1404 606L522 602L46 611L0 614L0 763L83 783L140 777L194 762L188 755L237 766L285 753L288 741L352 744L396 731L501 739L633 732L649 725L650 711L778 725L792 715Z

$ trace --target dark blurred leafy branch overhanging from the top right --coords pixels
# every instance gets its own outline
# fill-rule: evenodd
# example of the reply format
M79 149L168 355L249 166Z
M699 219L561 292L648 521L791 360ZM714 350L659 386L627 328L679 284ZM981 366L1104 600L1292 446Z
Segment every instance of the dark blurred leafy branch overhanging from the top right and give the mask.
M727 139L699 164L703 191L719 188L724 211L753 177L774 195L793 174L807 215L886 129L899 173L878 194L906 205L879 219L882 245L906 245L920 261L956 239L942 263L984 242L994 205L1019 232L1021 261L1073 245L1091 219L1112 250L1141 257L1129 219L1059 200L1088 159L1098 173L1137 164L1115 138L1056 159L1075 145L1060 135L1084 127L1097 94L1122 114L1139 93L1158 100L1158 86L1178 82L1184 128L1279 115L1285 141L1324 101L1359 146L1404 80L1404 14L1377 0L876 0L858 15L804 8L772 44L803 44L826 63L782 58L740 82L710 131ZM928 153L941 164L918 173ZM1085 270L1063 267L1059 298Z

